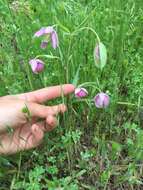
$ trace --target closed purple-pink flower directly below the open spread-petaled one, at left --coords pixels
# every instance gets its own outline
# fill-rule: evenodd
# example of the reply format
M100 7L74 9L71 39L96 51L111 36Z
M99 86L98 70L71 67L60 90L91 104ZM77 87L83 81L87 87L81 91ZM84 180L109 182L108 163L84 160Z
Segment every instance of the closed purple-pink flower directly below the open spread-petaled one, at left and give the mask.
M44 62L40 59L31 59L29 64L31 65L33 73L38 74L44 69Z

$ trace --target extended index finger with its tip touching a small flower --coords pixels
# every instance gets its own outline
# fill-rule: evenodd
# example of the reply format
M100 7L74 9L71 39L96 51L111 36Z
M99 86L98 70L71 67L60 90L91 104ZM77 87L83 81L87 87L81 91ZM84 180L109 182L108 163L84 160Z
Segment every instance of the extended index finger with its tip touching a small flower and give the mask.
M74 92L74 85L64 84L59 86L47 87L34 92L24 93L17 95L18 98L24 99L27 101L42 103L47 100L51 100L62 95L67 95Z

